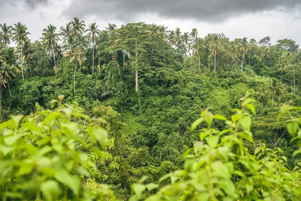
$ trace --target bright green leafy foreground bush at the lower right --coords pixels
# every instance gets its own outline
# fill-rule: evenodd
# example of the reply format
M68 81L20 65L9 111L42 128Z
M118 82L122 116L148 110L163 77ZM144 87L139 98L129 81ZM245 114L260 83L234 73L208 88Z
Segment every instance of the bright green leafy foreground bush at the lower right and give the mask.
M255 114L252 105L255 101L247 96L240 99L241 109L235 110L231 120L213 115L208 109L202 112L191 129L202 122L208 128L201 130L201 141L186 152L184 169L163 176L159 184L143 184L144 179L133 184L134 195L130 200L299 200L299 168L289 169L281 149L254 144L247 109ZM289 107L282 107L281 112L289 113ZM215 119L224 121L227 129L211 128ZM292 118L287 126L293 137L298 131L298 139L300 121ZM254 153L248 151L244 141L254 144ZM163 184L164 180L169 184ZM149 195L153 191L156 194Z

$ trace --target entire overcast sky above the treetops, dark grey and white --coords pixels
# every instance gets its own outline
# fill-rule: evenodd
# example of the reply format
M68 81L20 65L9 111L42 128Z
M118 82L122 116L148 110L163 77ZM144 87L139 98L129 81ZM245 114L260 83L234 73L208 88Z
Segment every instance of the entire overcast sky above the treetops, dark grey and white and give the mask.
M289 38L301 45L301 0L0 0L0 24L26 24L32 40L47 25L59 29L76 16L99 29L142 21L182 32L197 28L200 37L270 36L273 43Z

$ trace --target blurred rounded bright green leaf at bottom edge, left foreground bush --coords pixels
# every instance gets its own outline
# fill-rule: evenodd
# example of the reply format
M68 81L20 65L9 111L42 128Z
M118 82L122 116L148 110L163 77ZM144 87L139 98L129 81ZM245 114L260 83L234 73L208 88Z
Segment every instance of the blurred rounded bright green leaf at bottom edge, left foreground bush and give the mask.
M47 201L58 200L62 191L57 181L47 180L41 184L43 198Z

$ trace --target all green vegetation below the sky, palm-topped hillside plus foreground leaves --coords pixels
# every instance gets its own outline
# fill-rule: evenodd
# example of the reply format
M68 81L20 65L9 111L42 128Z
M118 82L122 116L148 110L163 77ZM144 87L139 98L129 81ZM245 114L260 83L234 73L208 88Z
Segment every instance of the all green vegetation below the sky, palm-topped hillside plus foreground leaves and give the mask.
M299 200L301 49L74 18L0 25L3 200Z

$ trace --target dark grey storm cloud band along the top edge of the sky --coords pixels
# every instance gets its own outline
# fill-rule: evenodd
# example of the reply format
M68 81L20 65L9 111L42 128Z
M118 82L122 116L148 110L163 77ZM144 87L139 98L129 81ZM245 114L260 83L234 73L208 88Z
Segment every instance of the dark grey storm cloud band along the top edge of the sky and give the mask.
M287 12L297 8L301 8L301 0L71 0L62 15L70 18L95 15L126 22L150 13L164 18L220 22L248 13Z

